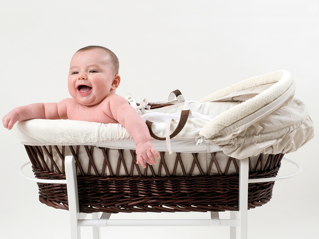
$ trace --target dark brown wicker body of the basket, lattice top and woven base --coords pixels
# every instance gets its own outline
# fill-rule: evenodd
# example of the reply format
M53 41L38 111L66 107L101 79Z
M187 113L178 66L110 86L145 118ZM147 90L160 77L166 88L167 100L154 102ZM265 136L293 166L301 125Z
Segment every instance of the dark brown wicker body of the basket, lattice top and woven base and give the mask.
M131 152L131 168L127 167L123 158L123 150L119 150L118 167L124 166L126 176L118 176L118 170L112 172L108 160L108 148L84 146L89 158L88 167L94 165L91 154L92 148L102 150L104 155L103 170L96 175L85 175L78 158L79 146L65 146L70 148L75 157L78 170L78 198L79 209L82 213L106 212L207 212L207 211L238 211L239 195L239 167L238 161L229 157L226 170L219 168L216 153L209 153L211 161L207 172L201 170L197 159L197 153L192 154L194 160L192 169L200 170L199 176L191 176L192 170L185 172L184 176L176 176L174 171L169 173L165 162L165 152L160 152L159 167L165 170L168 176L160 176L155 173L152 165L147 165L152 171L152 176L145 176L136 164L134 150ZM65 179L64 173L64 146L59 150L57 146L25 146L32 163L34 174L42 179ZM53 159L53 151L56 150L59 159ZM50 158L46 163L44 155ZM278 173L281 159L284 154L267 155L264 158L260 154L254 167L249 158L249 179L275 177ZM62 161L62 168L57 166L57 160ZM175 165L182 166L180 153L176 153ZM227 174L232 164L237 174ZM210 175L211 168L217 168L217 175ZM121 166L121 167L122 167ZM138 171L137 176L132 175L132 169ZM147 170L146 168L146 170ZM176 168L176 167L175 167ZM183 168L183 166L182 166ZM55 169L55 170L54 170ZM107 169L110 173L105 175ZM258 170L257 170L258 169ZM86 169L86 171L90 171ZM161 170L159 170L160 172ZM185 171L185 170L184 170ZM183 171L183 172L184 172ZM40 201L48 206L68 210L68 198L66 184L38 183ZM274 182L250 183L248 188L248 208L262 206L270 201Z

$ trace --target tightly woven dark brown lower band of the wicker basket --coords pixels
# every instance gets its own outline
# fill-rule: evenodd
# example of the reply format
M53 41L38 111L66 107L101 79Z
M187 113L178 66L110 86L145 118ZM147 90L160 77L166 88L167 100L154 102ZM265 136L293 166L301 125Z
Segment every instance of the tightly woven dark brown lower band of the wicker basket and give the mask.
M42 203L68 210L66 185L38 185ZM269 202L273 186L274 182L249 184L248 209ZM82 213L238 211L238 175L78 177L78 188Z

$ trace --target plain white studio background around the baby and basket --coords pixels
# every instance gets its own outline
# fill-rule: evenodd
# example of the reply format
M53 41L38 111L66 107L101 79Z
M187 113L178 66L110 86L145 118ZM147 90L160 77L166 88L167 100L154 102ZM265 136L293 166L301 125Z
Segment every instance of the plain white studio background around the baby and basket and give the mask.
M68 98L72 55L87 45L120 60L117 93L139 102L187 100L284 69L319 127L319 3L313 1L0 1L1 118L14 107ZM7 129L1 140L1 238L70 238L68 212L38 201L22 178L28 160ZM296 177L275 184L273 199L249 211L249 238L318 236L318 137L287 157ZM293 172L284 164L281 175ZM226 215L227 216L227 215ZM209 218L203 213L117 214L113 218ZM102 238L228 238L228 228L102 228ZM83 229L83 238L90 238Z

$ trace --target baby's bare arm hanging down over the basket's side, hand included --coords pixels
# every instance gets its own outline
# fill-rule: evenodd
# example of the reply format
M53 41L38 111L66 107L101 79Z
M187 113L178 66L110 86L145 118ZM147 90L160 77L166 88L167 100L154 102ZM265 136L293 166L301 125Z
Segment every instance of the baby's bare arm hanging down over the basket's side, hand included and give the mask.
M153 164L156 160L153 154L159 158L159 154L153 147L150 132L133 107L121 96L112 95L109 101L111 113L116 121L124 126L133 137L136 145L137 163L145 168L146 163Z

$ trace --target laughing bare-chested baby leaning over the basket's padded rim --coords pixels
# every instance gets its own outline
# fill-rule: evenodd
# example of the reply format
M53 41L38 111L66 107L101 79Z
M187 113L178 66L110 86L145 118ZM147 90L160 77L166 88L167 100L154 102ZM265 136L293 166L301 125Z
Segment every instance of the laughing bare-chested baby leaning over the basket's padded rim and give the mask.
M17 121L30 119L120 123L136 144L137 163L144 168L145 162L152 165L156 163L154 155L159 158L159 154L145 122L125 98L115 94L121 81L118 70L118 59L108 48L81 48L70 63L68 89L72 98L14 108L3 117L3 125L10 130Z

